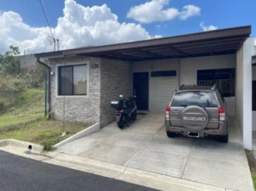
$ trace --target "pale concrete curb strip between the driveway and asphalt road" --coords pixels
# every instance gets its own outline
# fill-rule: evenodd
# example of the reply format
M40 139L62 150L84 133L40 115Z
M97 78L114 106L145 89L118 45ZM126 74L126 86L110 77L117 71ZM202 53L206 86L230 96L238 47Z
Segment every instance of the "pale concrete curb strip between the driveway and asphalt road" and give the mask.
M78 171L85 171L99 176L106 176L110 179L117 179L132 184L139 184L157 190L180 190L180 191L225 191L223 187L217 187L200 182L192 182L186 179L179 179L172 176L143 171L140 169L116 165L101 160L86 157L77 157L60 153L45 163L60 165Z

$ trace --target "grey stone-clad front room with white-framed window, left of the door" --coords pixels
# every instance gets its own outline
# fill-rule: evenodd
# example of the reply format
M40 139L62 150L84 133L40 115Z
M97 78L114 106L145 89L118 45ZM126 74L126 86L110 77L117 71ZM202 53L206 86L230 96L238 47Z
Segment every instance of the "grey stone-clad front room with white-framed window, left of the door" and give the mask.
M100 122L108 125L115 119L110 101L118 95L132 95L132 66L125 61L104 58L71 56L68 58L48 58L51 80L51 112L59 120L73 122ZM60 95L61 67L75 68L83 66L83 79L86 80L84 95ZM66 71L69 77L69 72ZM74 73L79 74L79 72ZM65 75L65 74L62 74ZM66 83L65 86L69 86Z

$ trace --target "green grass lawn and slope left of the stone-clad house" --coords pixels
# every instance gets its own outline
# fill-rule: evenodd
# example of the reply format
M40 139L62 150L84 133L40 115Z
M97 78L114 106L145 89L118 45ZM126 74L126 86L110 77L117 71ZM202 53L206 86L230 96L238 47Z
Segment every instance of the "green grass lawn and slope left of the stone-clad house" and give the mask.
M0 115L0 139L18 139L42 144L45 150L54 144L88 128L89 125L62 120L47 120L44 116L44 90L29 89L17 104ZM62 137L61 133L67 133Z

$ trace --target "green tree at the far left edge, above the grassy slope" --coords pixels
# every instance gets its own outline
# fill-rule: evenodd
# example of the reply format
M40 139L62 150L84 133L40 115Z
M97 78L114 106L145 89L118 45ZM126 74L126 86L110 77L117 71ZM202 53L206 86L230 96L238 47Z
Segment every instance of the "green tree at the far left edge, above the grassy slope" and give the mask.
M20 61L15 58L15 55L19 55L19 47L10 46L10 50L5 52L4 55L0 54L1 70L7 74L20 74Z

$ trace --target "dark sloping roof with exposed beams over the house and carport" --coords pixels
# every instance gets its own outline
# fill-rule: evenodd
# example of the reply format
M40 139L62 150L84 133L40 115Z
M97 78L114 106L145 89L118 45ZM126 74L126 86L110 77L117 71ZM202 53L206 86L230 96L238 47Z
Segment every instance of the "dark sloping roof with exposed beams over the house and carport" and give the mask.
M241 26L138 42L45 52L35 54L35 57L85 55L123 61L146 61L224 55L235 53L251 31L251 26Z

